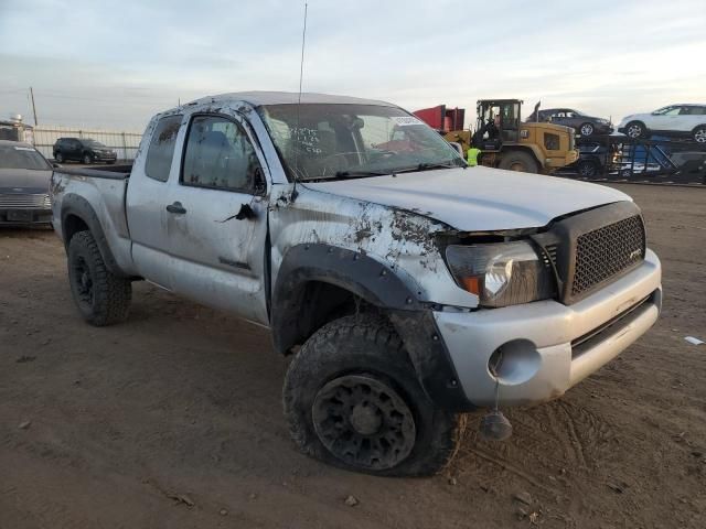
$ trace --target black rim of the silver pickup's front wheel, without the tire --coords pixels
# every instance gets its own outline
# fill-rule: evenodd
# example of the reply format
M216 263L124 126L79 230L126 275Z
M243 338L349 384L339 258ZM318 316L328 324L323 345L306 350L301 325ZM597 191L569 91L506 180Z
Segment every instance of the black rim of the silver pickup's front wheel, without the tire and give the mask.
M392 468L415 445L411 410L397 391L368 375L347 375L323 386L312 419L327 450L352 466Z

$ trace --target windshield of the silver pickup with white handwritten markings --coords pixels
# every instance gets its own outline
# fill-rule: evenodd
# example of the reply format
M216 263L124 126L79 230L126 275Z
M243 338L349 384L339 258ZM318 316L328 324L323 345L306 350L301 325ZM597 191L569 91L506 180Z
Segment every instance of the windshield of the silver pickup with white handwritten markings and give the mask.
M374 176L464 166L458 152L416 117L376 105L268 105L265 121L291 180Z

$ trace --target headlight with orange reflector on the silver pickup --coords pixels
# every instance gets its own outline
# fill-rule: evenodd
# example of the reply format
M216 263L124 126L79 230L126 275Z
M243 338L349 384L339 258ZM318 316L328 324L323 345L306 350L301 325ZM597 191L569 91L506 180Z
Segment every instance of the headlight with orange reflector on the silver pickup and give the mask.
M507 306L556 295L552 267L525 241L449 246L446 261L482 306Z

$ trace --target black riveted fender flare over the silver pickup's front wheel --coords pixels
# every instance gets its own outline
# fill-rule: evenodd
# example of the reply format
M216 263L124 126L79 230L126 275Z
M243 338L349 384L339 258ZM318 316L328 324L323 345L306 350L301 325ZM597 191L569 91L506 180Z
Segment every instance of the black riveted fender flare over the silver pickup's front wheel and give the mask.
M458 384L451 357L440 339L431 306L410 288L411 278L363 253L324 244L290 248L272 289L270 328L275 350L286 354L302 336L300 306L307 283L334 284L383 309L399 334L417 378L429 398L456 410L473 409Z

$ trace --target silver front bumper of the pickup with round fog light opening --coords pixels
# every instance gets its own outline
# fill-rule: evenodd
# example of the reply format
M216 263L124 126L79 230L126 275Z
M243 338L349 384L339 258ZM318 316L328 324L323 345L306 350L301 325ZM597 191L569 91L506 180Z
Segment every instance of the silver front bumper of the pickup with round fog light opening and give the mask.
M492 406L561 396L618 356L657 320L662 270L648 250L642 264L571 305L553 300L475 312L434 312L466 397ZM489 360L502 346L498 377Z

